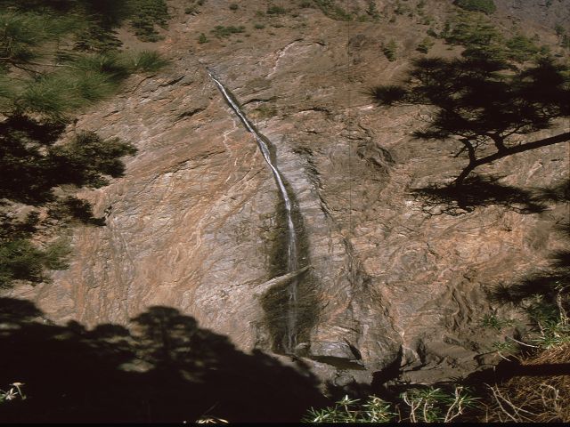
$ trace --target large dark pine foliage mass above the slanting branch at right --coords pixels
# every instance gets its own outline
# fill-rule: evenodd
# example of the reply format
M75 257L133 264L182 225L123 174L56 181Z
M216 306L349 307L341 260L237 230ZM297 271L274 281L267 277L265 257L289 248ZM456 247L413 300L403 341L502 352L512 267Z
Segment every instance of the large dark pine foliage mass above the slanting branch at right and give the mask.
M570 69L542 58L518 70L503 60L469 57L414 60L404 85L371 89L382 106L421 104L436 108L422 139L454 138L468 165L454 181L460 186L480 165L531 149L570 141L570 132L520 141L570 115Z

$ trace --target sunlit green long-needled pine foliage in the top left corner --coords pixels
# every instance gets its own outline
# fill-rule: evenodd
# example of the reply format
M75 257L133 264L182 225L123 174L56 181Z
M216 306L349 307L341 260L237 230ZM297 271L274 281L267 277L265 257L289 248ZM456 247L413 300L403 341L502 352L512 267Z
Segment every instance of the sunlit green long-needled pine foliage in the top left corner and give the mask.
M53 3L37 1L28 7L15 3L10 12L0 12L0 26L5 28L0 33L0 106L4 114L39 114L63 120L69 112L116 93L130 73L155 71L165 65L156 53L141 52L127 58L117 52L118 40L113 39L110 28L128 16L126 4L133 6L133 2L62 1L67 7L63 14ZM76 34L81 36L75 49L90 53L56 49L54 42L70 41Z

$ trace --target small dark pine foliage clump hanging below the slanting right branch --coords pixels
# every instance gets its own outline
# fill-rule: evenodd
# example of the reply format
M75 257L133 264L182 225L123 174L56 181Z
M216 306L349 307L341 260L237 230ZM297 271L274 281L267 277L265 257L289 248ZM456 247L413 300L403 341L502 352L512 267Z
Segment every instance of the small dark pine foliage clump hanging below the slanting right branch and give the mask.
M430 215L460 215L473 212L478 206L501 205L519 214L538 214L547 209L547 196L553 189L518 189L499 182L503 177L475 175L461 185L430 185L413 189L411 194Z

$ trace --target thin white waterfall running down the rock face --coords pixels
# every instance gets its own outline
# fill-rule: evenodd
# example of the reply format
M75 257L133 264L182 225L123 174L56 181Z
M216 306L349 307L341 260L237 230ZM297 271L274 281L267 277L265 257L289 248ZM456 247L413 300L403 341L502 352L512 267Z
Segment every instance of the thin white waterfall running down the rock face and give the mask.
M293 272L298 269L297 265L297 233L295 231L295 225L293 224L293 216L292 216L292 204L291 199L289 198L289 194L287 193L287 189L285 188L285 184L283 182L283 177L279 168L276 164L273 163L271 158L271 153L269 150L269 146L271 142L261 133L259 133L256 127L248 120L245 113L240 109L240 105L233 94L228 91L224 85L214 76L212 71L208 69L209 77L214 81L217 88L220 92L224 95L225 101L232 107L232 110L235 114L240 117L241 123L246 127L248 132L252 133L256 139L257 146L261 150L263 157L265 158L265 162L269 165L270 169L272 170L273 177L277 182L277 187L279 187L279 191L281 194L281 198L283 203L285 204L285 213L287 217L287 231L288 231L288 238L287 238L287 272ZM297 278L294 278L288 287L288 307L287 307L287 323L286 323L286 336L283 342L284 350L288 353L293 353L295 350L295 346L297 345Z

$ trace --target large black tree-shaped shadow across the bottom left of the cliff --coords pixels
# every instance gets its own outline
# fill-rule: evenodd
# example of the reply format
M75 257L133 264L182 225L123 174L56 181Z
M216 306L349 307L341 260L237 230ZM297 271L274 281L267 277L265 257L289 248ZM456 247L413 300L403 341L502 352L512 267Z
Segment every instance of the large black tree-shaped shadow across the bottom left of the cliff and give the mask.
M237 350L175 309L132 324L55 326L31 302L0 299L0 383L25 383L28 396L2 405L0 420L296 422L324 400L313 375Z

